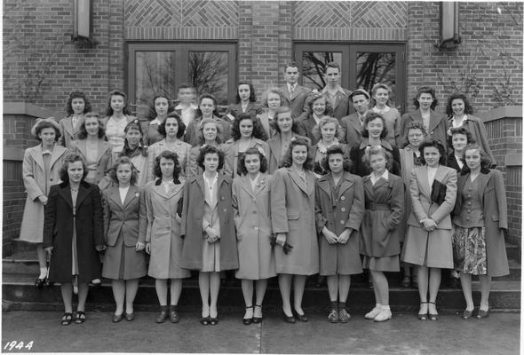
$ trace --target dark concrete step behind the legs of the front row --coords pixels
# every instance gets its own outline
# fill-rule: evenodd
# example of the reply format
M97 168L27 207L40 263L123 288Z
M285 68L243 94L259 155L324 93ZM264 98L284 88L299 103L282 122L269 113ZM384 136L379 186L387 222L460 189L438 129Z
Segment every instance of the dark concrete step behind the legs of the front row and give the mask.
M309 278L312 279L312 278ZM54 310L62 307L60 287L38 289L34 285L34 276L21 274L6 274L3 279L3 305L9 310ZM479 283L473 282L473 298L475 304L480 302ZM390 287L390 304L396 310L417 310L418 291L415 288ZM489 302L494 310L505 312L520 312L520 281L498 281L492 283ZM110 311L114 307L113 293L110 283L104 280L99 287L90 289L88 304L100 310ZM155 310L158 300L155 293L154 280L146 278L140 282L139 292L135 304L138 310ZM240 310L243 308L242 288L222 286L218 299L220 307ZM281 296L276 279L269 282L265 307L279 309ZM314 283L306 284L303 304L307 308L314 308L322 312L329 305L328 290L326 287L316 288ZM369 309L375 304L373 290L367 284L352 283L347 304L352 309ZM437 298L439 309L454 311L464 309L464 296L460 289L442 287ZM184 281L184 289L179 302L180 307L197 311L201 307L198 281L191 278Z

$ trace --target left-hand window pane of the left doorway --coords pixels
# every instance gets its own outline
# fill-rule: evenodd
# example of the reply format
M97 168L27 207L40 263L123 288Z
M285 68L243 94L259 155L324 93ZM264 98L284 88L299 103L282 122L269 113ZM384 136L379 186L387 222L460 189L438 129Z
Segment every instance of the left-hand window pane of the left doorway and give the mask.
M176 98L174 51L136 51L135 93L137 115L147 114L156 95Z

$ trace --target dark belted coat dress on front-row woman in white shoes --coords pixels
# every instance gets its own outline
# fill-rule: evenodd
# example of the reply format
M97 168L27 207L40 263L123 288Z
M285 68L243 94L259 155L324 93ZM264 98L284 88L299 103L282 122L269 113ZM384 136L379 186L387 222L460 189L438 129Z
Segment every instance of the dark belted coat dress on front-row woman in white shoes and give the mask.
M398 272L399 225L404 206L404 183L387 170L373 185L371 175L362 178L365 212L361 226L362 266L369 270Z

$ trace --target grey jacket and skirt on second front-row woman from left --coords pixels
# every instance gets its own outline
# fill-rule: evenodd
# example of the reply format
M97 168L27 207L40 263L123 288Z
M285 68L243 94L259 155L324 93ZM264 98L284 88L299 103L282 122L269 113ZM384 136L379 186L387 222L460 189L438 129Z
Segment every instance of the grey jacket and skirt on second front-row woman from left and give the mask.
M146 242L139 233L140 223L146 222L143 191L130 185L122 203L118 185L102 193L104 237L107 245L102 276L108 279L131 280L146 275L144 251L136 250L137 242Z

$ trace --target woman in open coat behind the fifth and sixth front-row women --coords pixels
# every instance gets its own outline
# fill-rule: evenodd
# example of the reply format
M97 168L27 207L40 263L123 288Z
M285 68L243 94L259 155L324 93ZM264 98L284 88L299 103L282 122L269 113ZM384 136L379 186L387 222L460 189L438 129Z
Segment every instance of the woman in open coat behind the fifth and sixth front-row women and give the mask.
M267 140L269 173L272 174L280 168L284 157L288 153L291 141L298 138L306 138L297 133L298 123L291 117L291 109L282 106L276 109L273 128L275 134L273 138ZM310 144L309 138L306 138Z

